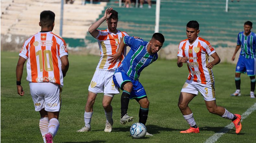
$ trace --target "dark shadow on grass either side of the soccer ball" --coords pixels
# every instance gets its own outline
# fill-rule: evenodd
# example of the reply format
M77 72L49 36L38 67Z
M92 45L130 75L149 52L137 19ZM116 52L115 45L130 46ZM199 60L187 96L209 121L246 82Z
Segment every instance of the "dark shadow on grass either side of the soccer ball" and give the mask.
M160 127L157 125L146 125L146 128L150 134L159 134L160 131L178 131L178 130L180 130L180 129ZM127 132L127 131L130 131L130 127L113 128L112 131L113 132Z

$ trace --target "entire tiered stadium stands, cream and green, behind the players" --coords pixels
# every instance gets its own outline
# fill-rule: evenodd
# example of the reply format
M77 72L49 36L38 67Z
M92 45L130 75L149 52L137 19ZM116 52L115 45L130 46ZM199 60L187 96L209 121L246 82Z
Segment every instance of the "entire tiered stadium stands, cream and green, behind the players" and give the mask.
M155 1L155 0L152 0ZM119 7L119 0L108 3L81 5L80 0L74 4L64 4L63 37L76 43L84 39L96 42L87 36L89 26L103 16L106 7L113 7L119 13L118 29L130 35L150 40L155 28L156 4L148 9ZM227 47L236 42L243 23L251 21L256 24L256 1L229 1L228 13L225 12L226 0L161 0L159 32L166 38L165 45L178 44L186 38L185 27L188 21L197 20L200 24L200 35L214 46ZM30 36L40 31L39 14L43 10L52 10L56 14L53 32L60 30L60 0L1 0L1 34ZM103 23L99 29L106 29ZM252 29L252 31L254 31ZM74 42L74 39L77 41Z

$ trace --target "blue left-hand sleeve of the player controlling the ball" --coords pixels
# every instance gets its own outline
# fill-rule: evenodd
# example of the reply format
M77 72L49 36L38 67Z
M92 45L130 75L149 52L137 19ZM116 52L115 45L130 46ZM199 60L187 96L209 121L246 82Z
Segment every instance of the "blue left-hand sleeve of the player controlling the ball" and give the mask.
M130 37L130 36L124 36L123 43L128 45L131 49L137 50L140 47L140 45L143 44L143 40L135 39L134 37Z

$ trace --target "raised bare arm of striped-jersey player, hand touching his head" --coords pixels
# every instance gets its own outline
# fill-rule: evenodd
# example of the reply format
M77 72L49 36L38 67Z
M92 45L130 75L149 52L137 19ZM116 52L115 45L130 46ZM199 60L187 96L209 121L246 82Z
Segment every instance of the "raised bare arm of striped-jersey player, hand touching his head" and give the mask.
M107 8L105 13L104 13L104 16L102 16L98 21L96 21L94 24L92 24L89 29L88 29L88 32L95 38L99 35L99 31L97 30L97 28L99 27L100 24L102 24L106 19L108 19L110 17L110 15L112 13L111 10L113 8Z

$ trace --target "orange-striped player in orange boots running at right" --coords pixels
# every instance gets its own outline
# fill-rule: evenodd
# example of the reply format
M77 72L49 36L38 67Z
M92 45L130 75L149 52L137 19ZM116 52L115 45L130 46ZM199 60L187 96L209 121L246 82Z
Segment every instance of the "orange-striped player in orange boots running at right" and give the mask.
M180 92L178 106L190 128L180 131L180 133L199 133L199 128L188 104L200 91L208 111L222 118L232 120L238 134L242 129L241 116L232 114L225 108L216 105L212 68L220 62L218 54L208 41L198 37L200 30L197 21L190 21L187 24L186 31L188 39L181 41L179 44L177 65L182 67L183 63L186 63L189 75ZM214 58L212 62L209 60L209 55Z

